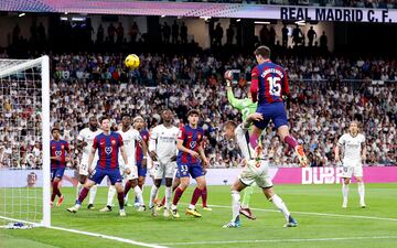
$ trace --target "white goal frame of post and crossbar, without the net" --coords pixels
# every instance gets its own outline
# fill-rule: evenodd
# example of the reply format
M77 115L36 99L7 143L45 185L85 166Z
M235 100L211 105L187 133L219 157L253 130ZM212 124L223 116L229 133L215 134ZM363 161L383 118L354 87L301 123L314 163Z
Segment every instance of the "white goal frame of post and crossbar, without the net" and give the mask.
M17 60L1 60L1 61L15 61ZM34 226L51 227L51 177L50 177L50 58L49 56L42 56L31 61L24 61L20 64L10 66L0 71L0 78L10 76L20 71L25 71L34 66L41 66L41 80L42 80L42 150L43 150L43 219L40 224L30 223L23 219L13 219L2 217L8 220L21 222L33 224Z

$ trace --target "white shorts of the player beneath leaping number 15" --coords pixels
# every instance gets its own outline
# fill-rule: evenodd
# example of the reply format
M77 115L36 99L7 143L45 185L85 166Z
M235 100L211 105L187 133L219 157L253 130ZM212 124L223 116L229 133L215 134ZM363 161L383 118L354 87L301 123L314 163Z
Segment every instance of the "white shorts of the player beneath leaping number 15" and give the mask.
M250 161L247 164L242 173L238 175L238 179L242 183L245 185L253 185L256 183L259 187L268 188L272 187L271 179L268 174L268 163L265 161L261 161L258 166L255 165L255 162Z

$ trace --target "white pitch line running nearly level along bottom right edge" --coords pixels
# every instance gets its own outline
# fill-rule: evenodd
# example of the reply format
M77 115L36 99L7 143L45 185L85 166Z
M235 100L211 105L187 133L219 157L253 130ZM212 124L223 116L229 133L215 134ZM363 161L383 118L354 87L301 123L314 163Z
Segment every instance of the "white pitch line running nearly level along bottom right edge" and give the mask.
M259 240L227 240L227 241L200 241L200 242L167 242L165 246L186 245L222 245L222 244L253 244L253 242L312 242L312 241L344 241L361 239L397 239L397 236L374 236L374 237L340 237L340 238L292 238L292 239L259 239Z

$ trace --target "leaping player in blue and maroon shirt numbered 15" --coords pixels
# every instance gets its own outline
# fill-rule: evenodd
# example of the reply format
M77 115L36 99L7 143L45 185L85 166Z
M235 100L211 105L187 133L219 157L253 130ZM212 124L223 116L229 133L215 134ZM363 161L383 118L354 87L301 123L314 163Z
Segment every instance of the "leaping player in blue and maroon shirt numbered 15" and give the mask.
M297 152L300 164L307 166L308 159L303 148L289 133L287 112L282 100L283 96L290 94L287 73L281 66L269 60L270 48L267 46L256 48L255 56L258 65L251 71L250 93L253 101L258 101L257 112L261 114L264 119L254 122L249 138L250 147L256 151L261 132L272 120L280 139ZM255 154L256 159L258 157L259 154Z

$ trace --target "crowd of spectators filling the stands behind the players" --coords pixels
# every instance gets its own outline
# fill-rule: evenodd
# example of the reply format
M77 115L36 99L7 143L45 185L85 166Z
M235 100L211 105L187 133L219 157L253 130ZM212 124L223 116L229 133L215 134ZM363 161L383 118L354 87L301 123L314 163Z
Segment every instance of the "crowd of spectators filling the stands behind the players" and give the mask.
M78 164L76 136L90 116L110 114L114 129L121 114L140 115L148 129L161 120L160 110L175 112L175 125L185 121L190 108L201 110L205 130L205 150L214 168L237 166L235 143L222 133L225 121L239 122L240 116L228 105L222 75L239 69L234 93L246 97L253 58L244 56L221 61L214 56L141 55L139 69L124 67L124 54L52 54L51 126L62 129ZM397 162L397 64L387 60L347 60L344 57L275 58L288 71L291 96L287 100L293 136L303 143L312 166L334 165L333 149L346 131L348 120L358 118L367 138L366 164ZM345 80L347 79L347 80ZM374 85L373 80L384 80ZM351 80L351 82L348 82ZM4 87L2 90L6 90ZM37 168L41 164L40 106L2 94L0 112L0 166ZM21 103L23 103L21 105ZM21 106L22 109L21 109ZM25 128L24 128L25 127ZM265 136L265 150L271 164L298 166L272 127ZM19 159L21 158L21 159Z

